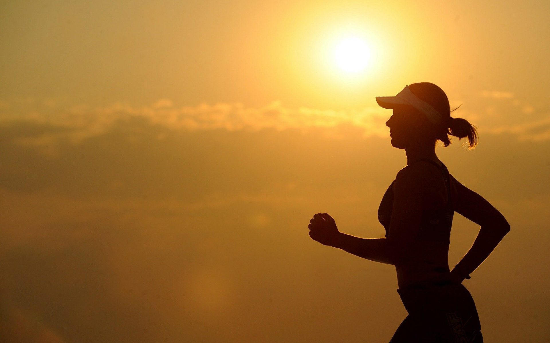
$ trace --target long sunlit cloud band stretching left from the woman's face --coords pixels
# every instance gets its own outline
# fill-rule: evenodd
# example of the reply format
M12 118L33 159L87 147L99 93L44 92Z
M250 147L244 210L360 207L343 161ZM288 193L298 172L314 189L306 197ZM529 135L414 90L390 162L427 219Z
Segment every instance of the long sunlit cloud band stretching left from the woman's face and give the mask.
M312 128L334 128L340 125L358 127L364 137L388 135L384 125L390 113L378 107L357 110L329 110L300 107L287 108L274 101L259 108L246 108L243 103L202 103L196 106L175 107L169 99L160 99L150 106L131 106L116 103L92 108L74 105L67 108L32 102L35 107L18 111L0 112L0 125L22 121L36 125L57 127L59 130L33 132L13 137L13 141L25 147L41 149L51 158L58 156L60 144L80 144L112 130L116 122L134 119L146 120L169 130L205 131L259 131L274 128L278 131L296 129L302 132ZM337 131L325 131L325 137L344 137ZM163 134L158 139L163 139Z

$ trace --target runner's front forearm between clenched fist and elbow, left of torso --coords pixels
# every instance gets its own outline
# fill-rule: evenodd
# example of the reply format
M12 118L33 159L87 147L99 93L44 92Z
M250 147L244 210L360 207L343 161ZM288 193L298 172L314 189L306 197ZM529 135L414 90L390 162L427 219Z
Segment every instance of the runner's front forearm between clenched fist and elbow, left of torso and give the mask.
M394 249L386 238L361 238L340 233L332 246L367 260L395 265Z

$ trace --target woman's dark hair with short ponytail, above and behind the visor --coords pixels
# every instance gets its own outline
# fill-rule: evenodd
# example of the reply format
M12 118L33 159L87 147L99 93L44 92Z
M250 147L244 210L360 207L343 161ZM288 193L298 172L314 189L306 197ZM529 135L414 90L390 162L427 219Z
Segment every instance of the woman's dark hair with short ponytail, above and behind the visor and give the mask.
M478 142L476 127L471 125L466 119L452 118L450 116L450 113L457 110L461 105L451 110L449 99L447 98L447 94L443 92L443 89L430 82L412 83L409 85L409 88L416 97L430 104L441 114L442 124L434 127L436 143L437 140L441 140L444 147L448 147L451 143L450 134L451 136L458 137L458 140L467 137L469 142L468 150L476 147Z

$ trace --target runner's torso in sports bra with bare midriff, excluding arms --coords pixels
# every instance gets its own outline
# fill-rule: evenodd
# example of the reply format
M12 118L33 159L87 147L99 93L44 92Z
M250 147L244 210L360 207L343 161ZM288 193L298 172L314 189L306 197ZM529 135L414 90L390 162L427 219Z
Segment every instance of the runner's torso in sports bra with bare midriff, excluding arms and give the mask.
M448 254L450 226L454 211L452 210L453 189L452 177L443 164L438 168L435 161L428 161L426 172L430 173L433 182L426 189L423 200L422 226L419 237L411 244L415 245L415 255L406 265L395 266L399 288L412 284L430 284L450 279ZM449 181L445 183L446 177ZM393 183L382 198L378 209L378 219L386 229L388 236L389 222L393 203ZM450 190L450 203L447 203Z

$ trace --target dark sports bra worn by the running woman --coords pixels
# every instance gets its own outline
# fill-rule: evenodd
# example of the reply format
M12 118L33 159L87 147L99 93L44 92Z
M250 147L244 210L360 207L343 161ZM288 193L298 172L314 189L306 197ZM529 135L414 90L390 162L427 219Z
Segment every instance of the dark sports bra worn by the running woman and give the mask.
M422 210L422 216L420 221L420 232L417 236L419 240L425 241L444 241L450 243L450 227L453 224L453 202L451 199L450 193L450 175L447 167L442 163L438 165L436 161L430 159L420 159L413 163L419 161L431 162L441 170L443 173L443 179L445 185L447 186L448 200L447 205L439 210ZM378 207L378 221L382 224L384 229L386 229L386 238L389 233L389 223L392 219L392 209L393 209L393 184L389 185L386 193L382 197L380 206Z

